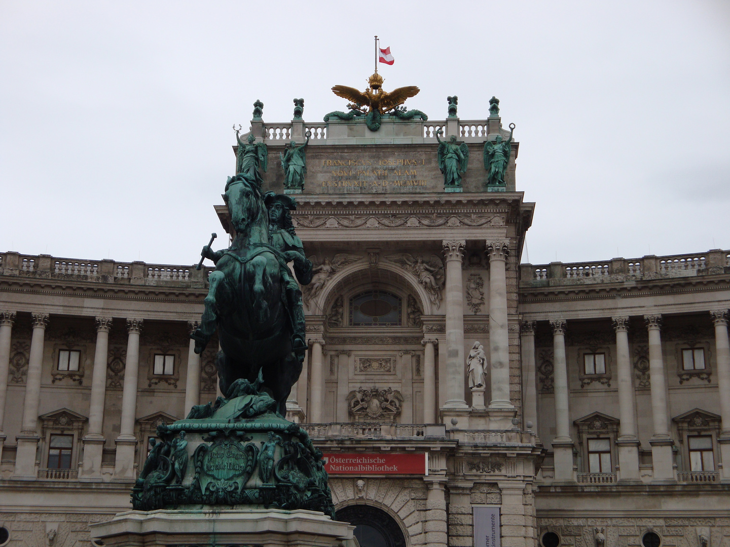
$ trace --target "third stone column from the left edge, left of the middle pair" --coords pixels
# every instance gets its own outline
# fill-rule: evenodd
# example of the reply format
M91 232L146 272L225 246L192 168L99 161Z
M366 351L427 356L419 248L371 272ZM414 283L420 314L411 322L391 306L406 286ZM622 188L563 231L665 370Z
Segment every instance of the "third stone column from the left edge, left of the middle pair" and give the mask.
M91 403L89 403L89 430L83 438L84 459L82 479L101 481L101 454L104 451L104 398L107 395L107 358L111 317L96 317L96 348L91 376Z

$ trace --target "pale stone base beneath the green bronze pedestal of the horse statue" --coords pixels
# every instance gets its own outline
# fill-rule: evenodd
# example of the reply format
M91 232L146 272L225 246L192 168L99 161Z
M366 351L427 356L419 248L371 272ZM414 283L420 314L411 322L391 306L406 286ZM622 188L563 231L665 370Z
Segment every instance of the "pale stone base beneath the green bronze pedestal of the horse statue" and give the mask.
M103 541L105 547L355 546L355 527L318 511L200 507L118 513L110 521L91 524L91 537Z

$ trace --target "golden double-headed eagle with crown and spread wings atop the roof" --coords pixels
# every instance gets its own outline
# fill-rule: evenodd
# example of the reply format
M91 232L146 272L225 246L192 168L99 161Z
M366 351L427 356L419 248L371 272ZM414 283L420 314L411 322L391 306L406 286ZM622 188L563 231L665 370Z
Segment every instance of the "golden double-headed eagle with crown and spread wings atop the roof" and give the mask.
M415 85L407 85L404 88L397 88L390 92L383 91L383 77L380 74L373 74L368 79L369 88L361 91L356 88L349 88L347 85L335 85L332 92L338 97L346 98L350 102L347 108L350 112L330 112L324 117L328 121L330 116L337 116L341 120L352 120L355 116L365 115L365 123L370 131L380 129L380 119L384 114L391 114L401 120L410 120L413 117L420 117L428 120L429 117L420 110L409 110L399 108L407 98L418 94L420 89Z

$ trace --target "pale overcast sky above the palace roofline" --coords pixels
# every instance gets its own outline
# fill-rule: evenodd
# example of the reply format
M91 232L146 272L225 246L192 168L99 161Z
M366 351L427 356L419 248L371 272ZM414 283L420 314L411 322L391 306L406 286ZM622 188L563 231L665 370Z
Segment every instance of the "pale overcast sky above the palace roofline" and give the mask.
M668 0L2 0L0 249L196 263L231 125L257 98L269 122L344 109L374 34L431 120L499 97L537 202L523 261L730 249L730 2Z

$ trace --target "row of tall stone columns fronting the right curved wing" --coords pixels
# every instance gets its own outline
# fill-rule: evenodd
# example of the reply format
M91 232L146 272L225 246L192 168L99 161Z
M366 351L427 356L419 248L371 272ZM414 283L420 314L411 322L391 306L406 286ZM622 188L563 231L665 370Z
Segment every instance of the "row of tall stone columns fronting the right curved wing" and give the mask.
M723 462L730 462L730 343L728 338L728 311L711 311L715 325L715 352L717 362L718 391L720 395L721 435L718 445ZM652 417L652 436L649 444L653 460L653 480L672 481L675 473L672 462L674 441L669 427L666 374L661 349L661 314L644 316L649 341L649 379ZM621 480L638 481L639 438L634 405L634 384L629 356L629 317L612 317L616 335L616 368L618 384L619 436L618 462ZM534 382L535 322L523 322L522 356L526 371L525 419L537 422L537 388ZM556 437L553 439L555 480L572 481L574 440L570 435L569 389L565 358L565 333L569 327L565 319L550 319L553 330L553 386L555 396ZM722 469L723 479L730 478L730 465Z

